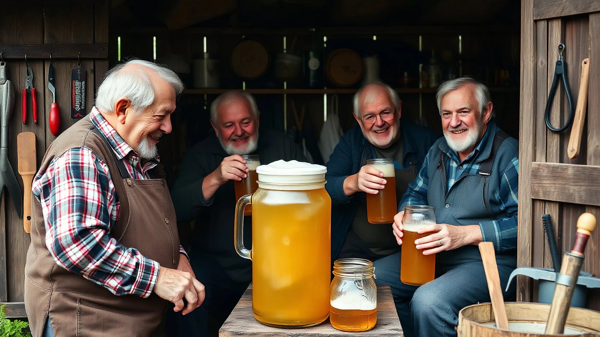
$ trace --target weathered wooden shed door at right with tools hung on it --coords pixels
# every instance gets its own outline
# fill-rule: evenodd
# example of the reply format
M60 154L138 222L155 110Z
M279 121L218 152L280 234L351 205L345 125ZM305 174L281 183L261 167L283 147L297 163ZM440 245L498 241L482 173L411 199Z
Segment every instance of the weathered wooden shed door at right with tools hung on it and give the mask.
M577 158L569 159L571 129L554 133L546 128L544 110L557 46L565 44L568 84L577 106L581 62L590 59L587 113ZM551 109L554 127L568 118L560 83ZM560 253L573 244L578 216L592 212L600 219L600 1L523 0L521 8L521 114L518 265L551 267L541 216L549 213ZM600 276L600 235L592 234L584 270ZM536 300L535 284L517 282L518 300ZM589 294L588 308L600 309L600 292Z

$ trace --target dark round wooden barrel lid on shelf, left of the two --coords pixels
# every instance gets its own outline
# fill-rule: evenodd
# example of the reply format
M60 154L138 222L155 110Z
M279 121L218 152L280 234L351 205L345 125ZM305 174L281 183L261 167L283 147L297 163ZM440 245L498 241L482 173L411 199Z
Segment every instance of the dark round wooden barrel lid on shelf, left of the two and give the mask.
M256 79L269 67L269 52L258 41L242 41L233 49L231 67L242 79Z

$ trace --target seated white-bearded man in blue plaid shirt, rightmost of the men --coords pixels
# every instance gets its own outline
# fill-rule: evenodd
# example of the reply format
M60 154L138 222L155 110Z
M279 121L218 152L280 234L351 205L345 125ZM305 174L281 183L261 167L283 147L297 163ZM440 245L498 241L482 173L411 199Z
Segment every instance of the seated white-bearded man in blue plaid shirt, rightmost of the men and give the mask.
M392 225L404 240L404 206L435 208L437 224L418 229L424 255L436 254L435 278L420 287L400 281L401 254L374 263L377 282L389 284L405 336L456 336L458 311L489 302L479 242L491 242L502 288L517 265L518 143L491 120L487 86L470 77L442 83L437 107L444 137L425 158L400 201ZM515 295L505 293L509 300Z

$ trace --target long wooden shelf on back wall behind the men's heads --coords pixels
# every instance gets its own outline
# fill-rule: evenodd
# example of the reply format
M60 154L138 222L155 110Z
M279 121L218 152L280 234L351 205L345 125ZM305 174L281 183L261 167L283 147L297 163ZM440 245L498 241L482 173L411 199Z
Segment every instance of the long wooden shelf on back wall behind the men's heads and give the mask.
M223 94L233 89L185 89L184 94ZM238 89L239 90L239 89ZM246 89L250 94L354 94L357 89ZM436 88L397 88L398 94L433 94ZM491 87L491 92L518 92L518 87Z

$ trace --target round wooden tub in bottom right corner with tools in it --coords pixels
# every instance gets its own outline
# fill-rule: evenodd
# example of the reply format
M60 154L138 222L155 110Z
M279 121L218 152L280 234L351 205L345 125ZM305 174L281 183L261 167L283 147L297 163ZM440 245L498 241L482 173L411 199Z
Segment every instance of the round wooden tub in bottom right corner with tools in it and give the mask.
M466 306L458 312L458 337L538 337L538 336L600 336L600 312L571 308L566 318L564 335L545 335L544 327L550 312L549 304L505 302L511 331L497 329L491 303ZM543 324L543 326L542 326ZM516 332L524 326L541 329L541 332ZM580 332L569 331L569 329Z

